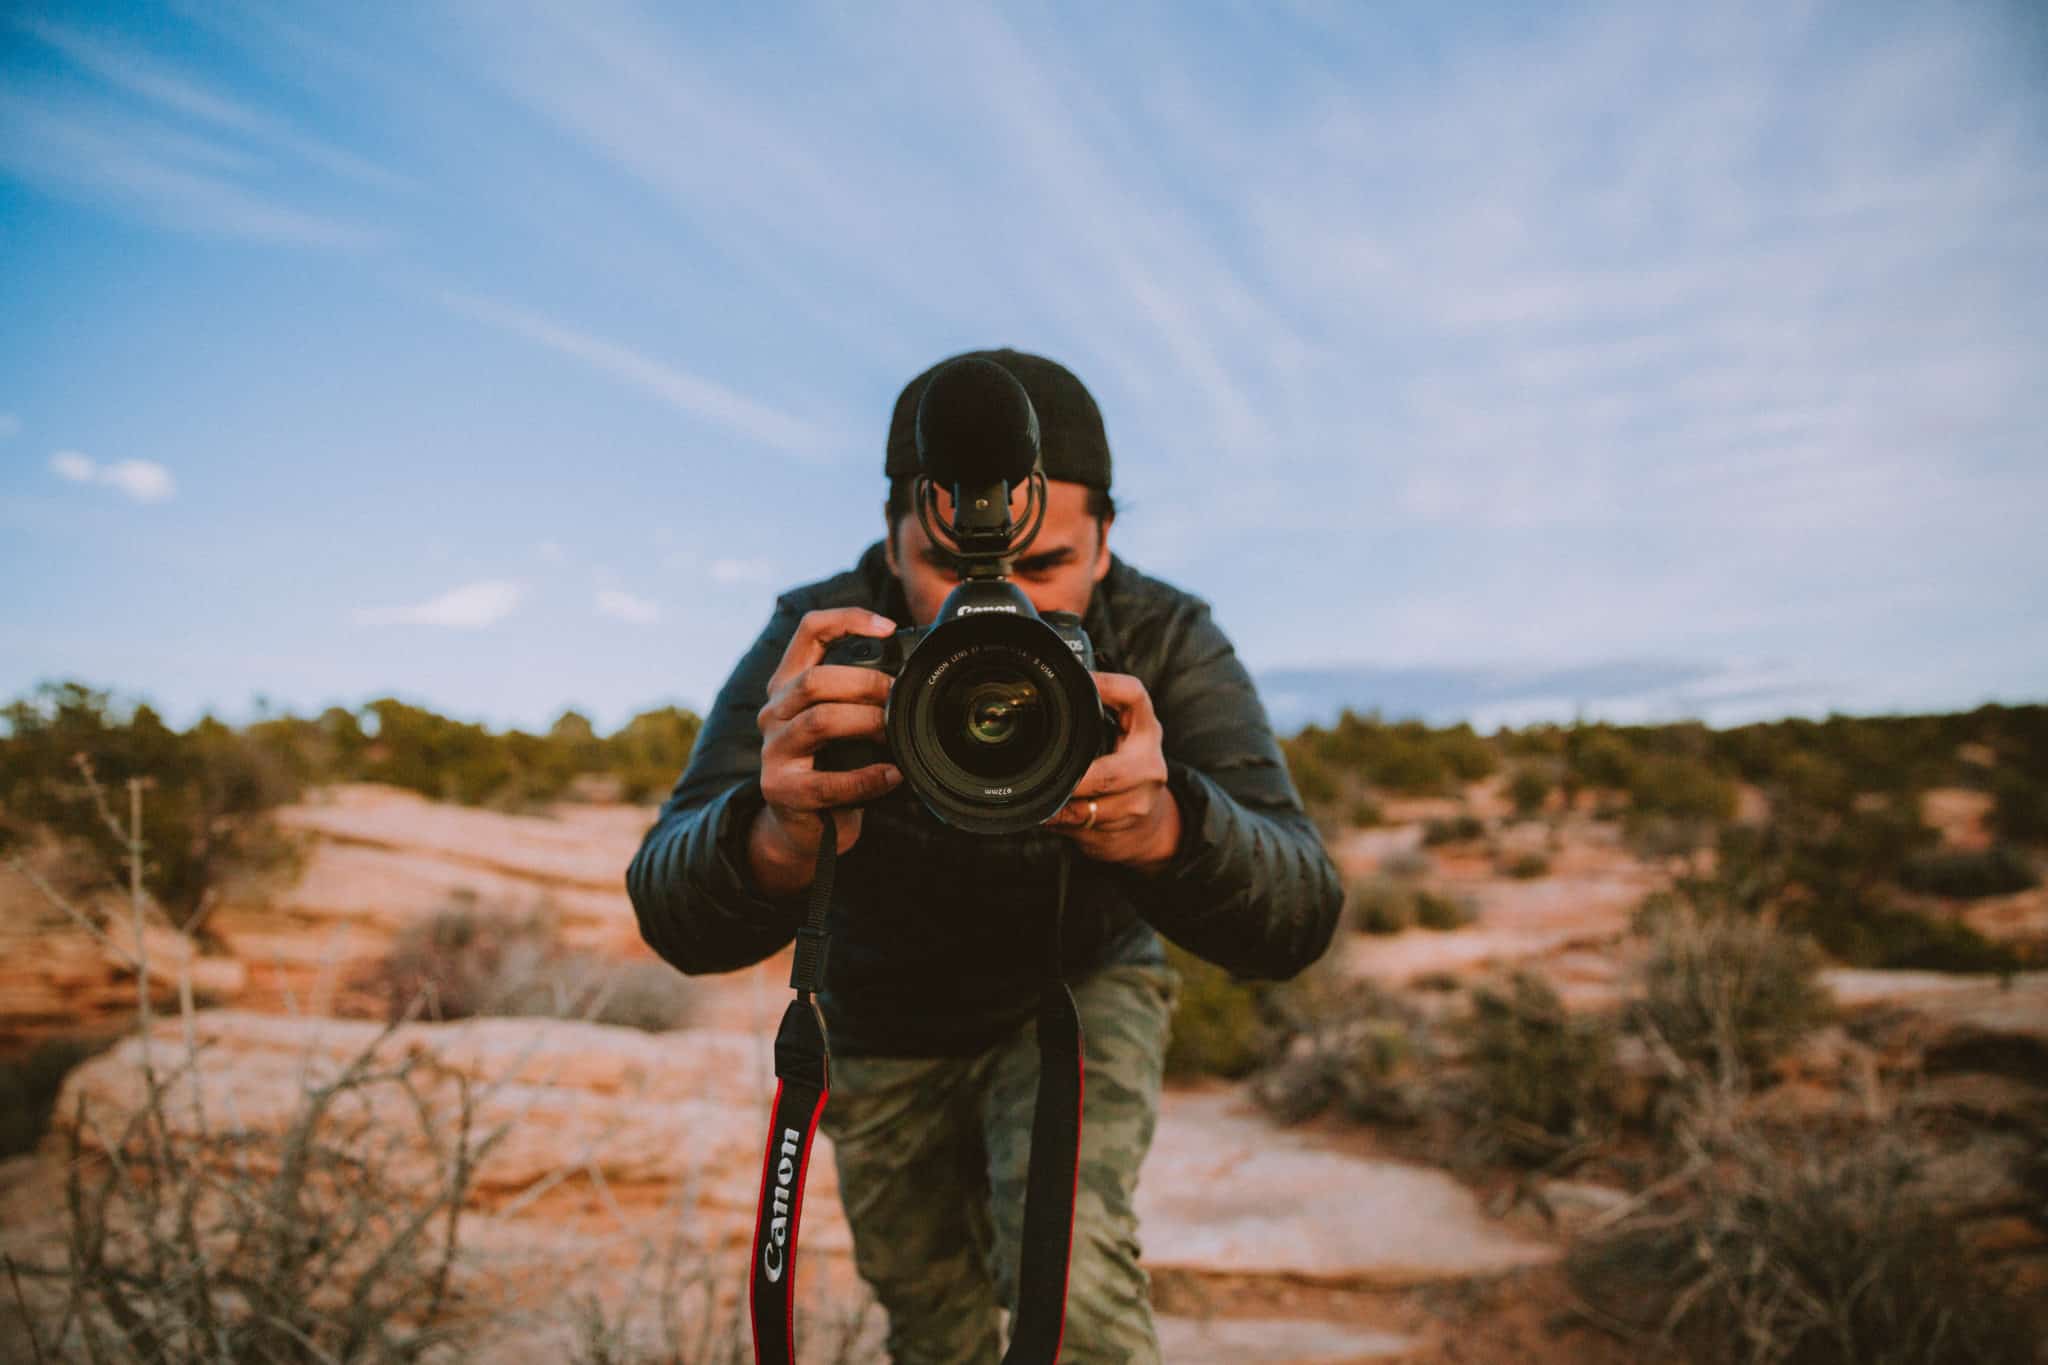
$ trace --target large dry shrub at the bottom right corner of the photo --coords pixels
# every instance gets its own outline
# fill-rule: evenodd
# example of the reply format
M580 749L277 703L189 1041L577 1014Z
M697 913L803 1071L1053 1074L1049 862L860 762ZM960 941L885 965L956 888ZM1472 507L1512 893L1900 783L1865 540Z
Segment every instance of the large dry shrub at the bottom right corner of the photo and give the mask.
M2030 1365L2036 1330L1898 1138L1839 1152L1737 1132L1671 1195L1571 1250L1604 1320L1706 1365Z

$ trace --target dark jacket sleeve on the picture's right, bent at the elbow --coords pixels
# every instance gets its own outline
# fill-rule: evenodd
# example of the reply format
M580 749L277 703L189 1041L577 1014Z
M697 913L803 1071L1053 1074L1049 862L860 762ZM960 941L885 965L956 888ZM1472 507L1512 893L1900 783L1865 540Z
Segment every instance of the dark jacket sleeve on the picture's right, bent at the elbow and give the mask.
M1323 956L1343 907L1251 675L1206 604L1174 614L1155 684L1180 847L1133 896L1155 929L1237 976L1288 978Z

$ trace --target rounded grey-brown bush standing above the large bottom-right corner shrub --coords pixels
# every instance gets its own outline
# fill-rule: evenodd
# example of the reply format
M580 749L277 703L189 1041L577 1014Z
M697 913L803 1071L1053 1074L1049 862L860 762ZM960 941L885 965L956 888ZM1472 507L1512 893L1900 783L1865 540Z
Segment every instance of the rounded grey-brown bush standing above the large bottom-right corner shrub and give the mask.
M1827 1017L1819 954L1769 917L1659 898L1640 921L1651 956L1636 1021L1679 1060L1716 1076L1747 1076Z

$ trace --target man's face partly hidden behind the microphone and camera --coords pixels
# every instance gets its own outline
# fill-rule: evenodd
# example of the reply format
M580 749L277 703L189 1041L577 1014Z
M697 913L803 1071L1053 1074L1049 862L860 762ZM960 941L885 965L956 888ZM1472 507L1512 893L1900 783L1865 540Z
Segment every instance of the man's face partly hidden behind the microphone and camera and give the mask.
M952 520L952 493L938 493L938 510ZM1010 516L1024 516L1024 491L1010 503ZM885 540L889 548L889 571L903 583L909 600L909 614L920 626L930 626L944 606L961 575L952 553L934 544L911 510L895 526L895 534ZM1044 612L1087 612L1087 598L1096 583L1110 571L1110 524L1100 528L1087 516L1087 487L1047 481L1044 526L1010 565L1010 581L1024 589L1030 604Z

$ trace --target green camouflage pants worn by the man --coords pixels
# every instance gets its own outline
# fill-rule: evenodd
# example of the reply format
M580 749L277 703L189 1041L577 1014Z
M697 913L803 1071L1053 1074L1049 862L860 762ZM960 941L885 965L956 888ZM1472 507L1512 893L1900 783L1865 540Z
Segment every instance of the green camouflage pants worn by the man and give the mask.
M1061 1361L1157 1365L1130 1207L1159 1115L1178 976L1114 966L1073 988L1087 1083ZM889 1312L895 1365L995 1365L1016 1310L1038 1029L971 1058L831 1064L825 1132L854 1263Z

